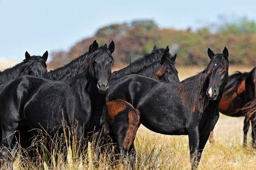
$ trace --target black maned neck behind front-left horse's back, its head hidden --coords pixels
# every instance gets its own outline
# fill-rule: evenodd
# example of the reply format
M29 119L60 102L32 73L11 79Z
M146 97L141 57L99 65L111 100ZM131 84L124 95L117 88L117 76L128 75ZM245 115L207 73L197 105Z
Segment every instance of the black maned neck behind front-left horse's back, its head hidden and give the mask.
M69 64L50 72L46 72L44 77L52 80L69 80L70 78L75 77L75 75L81 74L85 70L85 61L88 54L89 52L84 53Z

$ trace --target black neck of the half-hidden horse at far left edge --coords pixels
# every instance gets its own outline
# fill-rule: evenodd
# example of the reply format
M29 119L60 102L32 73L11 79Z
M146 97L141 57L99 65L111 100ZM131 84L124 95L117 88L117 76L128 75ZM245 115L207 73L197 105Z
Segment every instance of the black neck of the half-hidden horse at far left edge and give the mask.
M17 78L20 75L20 68L23 67L26 63L23 61L19 64L16 64L14 67L8 68L0 72L0 84L5 84L6 82Z

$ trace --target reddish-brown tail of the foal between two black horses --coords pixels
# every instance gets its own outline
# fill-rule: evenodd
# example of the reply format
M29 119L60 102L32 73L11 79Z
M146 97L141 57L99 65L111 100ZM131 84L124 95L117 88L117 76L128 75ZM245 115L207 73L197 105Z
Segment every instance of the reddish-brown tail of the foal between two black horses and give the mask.
M128 118L129 118L128 130L125 134L124 143L123 143L123 147L125 149L128 149L132 145L132 142L135 139L135 135L140 123L140 112L137 109L134 109L132 107L129 109Z

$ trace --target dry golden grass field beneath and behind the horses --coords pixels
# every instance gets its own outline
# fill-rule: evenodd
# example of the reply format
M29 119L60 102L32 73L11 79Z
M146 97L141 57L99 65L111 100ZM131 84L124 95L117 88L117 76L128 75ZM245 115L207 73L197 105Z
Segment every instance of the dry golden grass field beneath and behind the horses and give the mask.
M177 70L182 80L202 69L178 67ZM236 70L249 71L251 68L230 67L229 72L231 74ZM207 142L198 170L256 170L256 150L250 145L245 148L242 146L243 120L243 117L234 118L221 114L214 131L215 143ZM251 143L251 137L248 142ZM187 136L156 134L141 125L136 136L135 148L138 154L135 170L190 170ZM68 150L66 161L61 154L52 154L52 157L59 155L59 158L57 162L50 163L46 163L44 157L40 157L35 163L18 156L14 162L14 170L126 170L129 167L125 163L112 166L112 161L109 161L112 153L105 153L106 156L101 157L96 167L90 149L86 151L83 159L77 158L76 152L71 148Z

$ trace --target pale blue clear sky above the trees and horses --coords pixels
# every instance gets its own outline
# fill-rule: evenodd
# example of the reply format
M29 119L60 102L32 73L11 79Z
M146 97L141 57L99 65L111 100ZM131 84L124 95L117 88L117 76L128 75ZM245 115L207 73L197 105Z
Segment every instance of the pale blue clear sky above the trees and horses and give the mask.
M200 28L219 15L256 20L255 0L0 0L0 59L68 50L98 28L138 19L161 28Z

